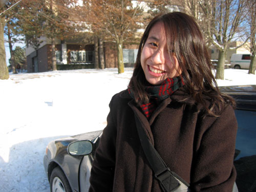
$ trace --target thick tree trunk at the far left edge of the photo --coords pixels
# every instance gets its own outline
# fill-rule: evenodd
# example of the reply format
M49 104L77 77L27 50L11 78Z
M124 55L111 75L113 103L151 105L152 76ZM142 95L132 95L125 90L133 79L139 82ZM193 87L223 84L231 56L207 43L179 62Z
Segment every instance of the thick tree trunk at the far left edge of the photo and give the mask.
M9 79L9 72L6 65L4 27L5 18L0 17L0 79Z

